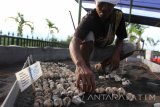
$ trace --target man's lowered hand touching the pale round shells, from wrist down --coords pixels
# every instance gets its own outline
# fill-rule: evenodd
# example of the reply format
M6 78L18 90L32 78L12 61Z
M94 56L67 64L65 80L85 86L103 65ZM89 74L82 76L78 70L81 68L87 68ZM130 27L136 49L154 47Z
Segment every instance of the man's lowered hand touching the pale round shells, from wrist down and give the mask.
M93 72L88 67L76 66L76 86L85 92L95 90L95 78Z

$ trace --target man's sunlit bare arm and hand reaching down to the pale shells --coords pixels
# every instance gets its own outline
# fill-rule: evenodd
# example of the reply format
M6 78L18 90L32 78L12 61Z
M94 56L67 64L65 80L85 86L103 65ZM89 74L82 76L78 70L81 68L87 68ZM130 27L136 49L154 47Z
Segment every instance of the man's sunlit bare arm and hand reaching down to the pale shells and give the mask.
M80 44L82 41L78 37L73 37L70 45L69 51L71 58L76 65L76 86L83 91L91 92L95 89L94 75L91 69L86 65L80 51ZM80 81L82 81L82 86Z

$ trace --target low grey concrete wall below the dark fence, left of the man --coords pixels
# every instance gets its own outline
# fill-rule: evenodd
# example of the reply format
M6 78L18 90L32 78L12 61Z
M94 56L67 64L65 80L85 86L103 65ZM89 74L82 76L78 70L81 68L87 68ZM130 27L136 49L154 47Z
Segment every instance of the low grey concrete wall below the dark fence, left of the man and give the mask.
M70 59L69 50L66 48L27 48L18 46L0 46L0 65L25 62L29 55L35 61L52 61Z

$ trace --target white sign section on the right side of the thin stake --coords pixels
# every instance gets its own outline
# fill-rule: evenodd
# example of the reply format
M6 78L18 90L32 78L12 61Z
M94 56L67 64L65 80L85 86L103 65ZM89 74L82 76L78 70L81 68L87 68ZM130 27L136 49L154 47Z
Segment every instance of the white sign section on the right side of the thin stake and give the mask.
M32 76L33 81L36 81L40 76L42 76L42 70L40 62L36 62L33 65L29 66L29 70Z

